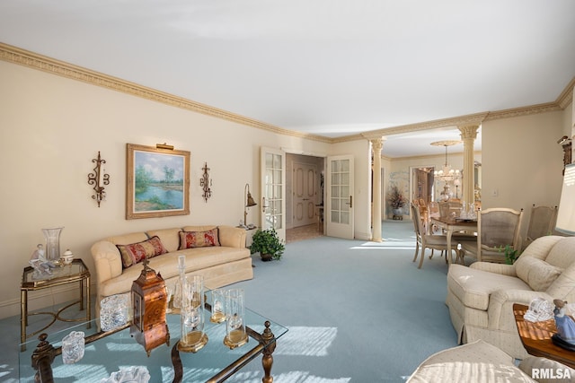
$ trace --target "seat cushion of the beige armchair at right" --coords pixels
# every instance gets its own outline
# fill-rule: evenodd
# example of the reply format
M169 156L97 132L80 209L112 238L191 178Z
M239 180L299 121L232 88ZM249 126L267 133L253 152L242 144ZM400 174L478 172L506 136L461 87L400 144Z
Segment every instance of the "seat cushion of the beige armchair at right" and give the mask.
M527 290L531 288L515 276L490 273L464 265L451 264L447 286L466 307L486 310L492 292L500 289Z

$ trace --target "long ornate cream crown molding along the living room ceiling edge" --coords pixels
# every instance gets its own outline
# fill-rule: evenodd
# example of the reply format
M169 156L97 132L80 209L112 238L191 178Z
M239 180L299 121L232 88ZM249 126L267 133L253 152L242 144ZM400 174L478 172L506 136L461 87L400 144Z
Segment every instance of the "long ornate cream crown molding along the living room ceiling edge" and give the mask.
M493 112L481 112L471 115L458 116L454 118L442 118L432 121L420 122L403 126L386 127L382 129L367 131L356 135L345 135L337 138L325 137L323 135L312 135L294 130L288 130L279 126L274 126L253 118L247 118L224 109L218 109L196 101L183 99L164 91L147 88L137 83L130 83L107 74L94 72L81 66L68 64L54 58L45 57L31 51L16 48L0 42L0 60L17 65L38 69L49 74L57 74L68 79L81 81L100 86L113 91L137 96L146 100L161 102L176 108L187 109L215 118L225 119L244 126L252 126L262 130L267 130L279 135L290 135L298 138L319 141L327 144L344 143L349 141L365 140L367 137L385 137L385 135L397 135L401 133L418 132L421 130L436 129L446 126L469 126L479 125L482 121L491 121L500 118L514 118L528 116L537 113L546 113L565 109L573 100L573 88L575 87L575 77L567 84L562 93L553 102L532 105L515 109L504 109Z

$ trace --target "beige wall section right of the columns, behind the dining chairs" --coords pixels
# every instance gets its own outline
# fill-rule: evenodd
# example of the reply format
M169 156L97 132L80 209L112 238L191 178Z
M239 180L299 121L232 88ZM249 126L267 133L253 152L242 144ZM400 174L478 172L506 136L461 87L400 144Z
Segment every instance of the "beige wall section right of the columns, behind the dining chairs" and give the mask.
M564 114L482 124L482 206L524 209L524 239L532 205L559 205L563 154L557 140L565 134Z

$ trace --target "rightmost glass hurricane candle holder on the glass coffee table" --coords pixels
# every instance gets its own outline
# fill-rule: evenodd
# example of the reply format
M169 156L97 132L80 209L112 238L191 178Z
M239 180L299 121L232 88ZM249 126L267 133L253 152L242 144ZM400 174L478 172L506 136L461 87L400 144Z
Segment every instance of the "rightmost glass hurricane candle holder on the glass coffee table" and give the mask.
M243 289L226 291L226 337L224 344L234 349L248 343L243 316Z

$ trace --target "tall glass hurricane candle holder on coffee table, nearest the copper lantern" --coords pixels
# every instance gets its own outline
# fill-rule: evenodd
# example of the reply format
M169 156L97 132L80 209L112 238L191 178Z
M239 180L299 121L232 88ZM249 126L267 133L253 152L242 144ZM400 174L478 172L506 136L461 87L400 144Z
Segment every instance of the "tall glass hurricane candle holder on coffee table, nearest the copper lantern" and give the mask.
M197 353L206 344L208 335L204 332L204 278L193 275L182 286L181 339L178 350Z

